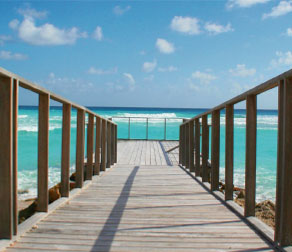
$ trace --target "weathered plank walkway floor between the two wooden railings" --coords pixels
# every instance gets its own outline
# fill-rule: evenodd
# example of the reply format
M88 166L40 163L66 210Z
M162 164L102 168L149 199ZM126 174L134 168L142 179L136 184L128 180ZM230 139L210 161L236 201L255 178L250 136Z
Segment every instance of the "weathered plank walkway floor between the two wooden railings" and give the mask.
M273 251L165 153L176 144L119 142L118 164L7 251Z

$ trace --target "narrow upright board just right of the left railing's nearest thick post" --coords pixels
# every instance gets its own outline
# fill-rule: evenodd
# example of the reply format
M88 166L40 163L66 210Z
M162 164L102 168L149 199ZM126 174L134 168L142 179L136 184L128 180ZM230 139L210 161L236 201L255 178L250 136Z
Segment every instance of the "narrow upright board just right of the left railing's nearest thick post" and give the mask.
M18 80L13 80L13 234L17 234L18 228Z

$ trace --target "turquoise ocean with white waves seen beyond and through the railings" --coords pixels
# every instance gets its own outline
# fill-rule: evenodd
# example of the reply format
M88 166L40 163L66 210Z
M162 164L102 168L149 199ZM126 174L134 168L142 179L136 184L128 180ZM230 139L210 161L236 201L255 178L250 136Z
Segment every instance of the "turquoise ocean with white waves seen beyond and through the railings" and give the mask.
M176 108L118 108L90 107L118 124L118 138L145 139L148 117L148 139L178 140L181 118L191 118L207 109ZM127 118L120 118L127 117ZM129 130L129 119L130 130ZM134 118L135 117L135 118ZM165 120L166 118L166 120ZM234 184L244 186L245 174L245 110L234 111ZM209 118L211 123L211 118ZM166 131L164 126L166 125ZM220 179L224 181L225 166L225 112L220 116ZM257 201L275 199L277 164L276 110L258 110L257 114ZM49 186L60 182L62 108L51 106L49 126ZM130 135L129 135L130 134ZM211 134L210 134L211 136ZM38 108L20 106L18 115L18 187L25 193L20 199L36 196L37 188ZM75 170L76 110L71 116L71 172ZM211 145L210 145L211 146ZM211 153L211 152L210 152Z

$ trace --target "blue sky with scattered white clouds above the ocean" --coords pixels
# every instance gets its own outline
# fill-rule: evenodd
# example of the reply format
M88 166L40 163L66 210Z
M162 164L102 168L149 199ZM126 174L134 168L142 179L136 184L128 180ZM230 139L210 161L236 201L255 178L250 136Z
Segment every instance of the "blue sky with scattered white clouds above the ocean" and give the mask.
M0 66L82 105L213 107L292 67L291 0L0 6Z

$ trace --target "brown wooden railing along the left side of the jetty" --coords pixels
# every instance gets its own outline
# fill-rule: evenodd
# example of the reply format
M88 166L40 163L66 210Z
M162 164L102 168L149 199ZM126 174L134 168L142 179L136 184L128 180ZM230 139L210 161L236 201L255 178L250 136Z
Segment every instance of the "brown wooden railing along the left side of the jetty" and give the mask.
M50 99L63 105L61 196L69 196L71 109L77 109L76 188L84 180L105 171L117 162L117 125L89 109L39 87L0 68L0 239L11 239L17 234L17 117L19 87L39 95L38 124L38 188L37 211L48 211L49 111ZM87 126L87 164L85 152L85 114ZM96 134L94 141L94 125ZM94 142L96 143L94 146ZM84 169L86 177L84 178Z

